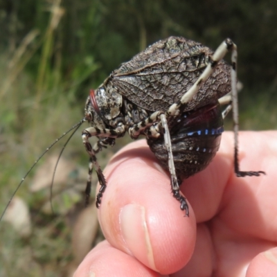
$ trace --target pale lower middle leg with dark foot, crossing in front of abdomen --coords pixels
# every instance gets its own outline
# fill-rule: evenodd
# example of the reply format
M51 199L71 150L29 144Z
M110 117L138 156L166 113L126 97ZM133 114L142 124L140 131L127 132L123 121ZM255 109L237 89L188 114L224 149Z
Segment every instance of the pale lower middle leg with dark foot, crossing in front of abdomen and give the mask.
M171 177L171 189L173 193L173 197L175 197L181 204L180 208L182 211L186 210L186 216L188 216L188 204L186 202L186 198L180 194L178 179L175 171L175 165L172 154L172 146L170 139L170 132L168 129L168 122L166 120L166 115L161 114L161 125L163 126L163 137L166 145L166 149L168 151L168 168Z

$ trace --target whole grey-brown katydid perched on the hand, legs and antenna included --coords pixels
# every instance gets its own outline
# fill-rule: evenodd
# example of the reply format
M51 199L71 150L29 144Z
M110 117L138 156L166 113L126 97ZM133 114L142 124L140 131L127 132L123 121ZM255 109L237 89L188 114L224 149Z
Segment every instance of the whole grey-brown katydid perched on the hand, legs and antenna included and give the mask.
M222 60L229 51L231 65ZM188 216L188 204L179 191L179 184L211 162L220 147L223 118L231 109L235 174L238 177L265 174L239 168L236 66L237 47L231 39L225 39L213 52L190 39L169 37L121 64L98 89L91 90L84 118L71 128L80 127L85 121L90 124L82 132L90 160L86 202L93 167L100 183L96 197L98 208L107 187L96 154L128 132L132 139L146 137L161 165L169 170L173 197ZM227 105L223 112L220 104ZM91 136L98 138L93 146L89 142Z

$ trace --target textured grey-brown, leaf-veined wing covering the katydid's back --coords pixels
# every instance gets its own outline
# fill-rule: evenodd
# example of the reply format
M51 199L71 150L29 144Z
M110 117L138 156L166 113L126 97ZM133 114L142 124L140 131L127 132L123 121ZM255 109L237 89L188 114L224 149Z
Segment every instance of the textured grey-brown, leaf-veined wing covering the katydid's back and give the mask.
M166 111L197 81L213 54L211 49L183 37L169 37L111 73L104 86L112 86L134 104L150 111ZM230 68L220 62L186 110L214 102L231 91Z

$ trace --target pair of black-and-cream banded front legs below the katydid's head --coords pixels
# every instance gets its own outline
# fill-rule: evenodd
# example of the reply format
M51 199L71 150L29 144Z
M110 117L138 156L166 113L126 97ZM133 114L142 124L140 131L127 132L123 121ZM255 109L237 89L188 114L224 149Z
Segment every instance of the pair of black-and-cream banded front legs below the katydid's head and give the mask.
M89 127L87 129L84 129L84 131L82 132L82 142L84 143L84 147L89 153L89 174L87 179L87 187L85 190L86 204L88 204L89 202L89 196L91 193L91 175L93 166L96 168L96 173L100 184L100 190L98 192L98 195L96 196L97 208L100 208L102 195L107 187L107 181L105 180L103 172L96 159L96 154L100 150L102 150L102 147L106 147L106 145L114 145L114 139L123 136L124 133L125 128L123 127L123 125L118 125L118 128L116 129L98 129L95 127ZM100 139L95 145L93 145L92 148L91 143L89 142L89 138L91 136L105 136L105 138Z

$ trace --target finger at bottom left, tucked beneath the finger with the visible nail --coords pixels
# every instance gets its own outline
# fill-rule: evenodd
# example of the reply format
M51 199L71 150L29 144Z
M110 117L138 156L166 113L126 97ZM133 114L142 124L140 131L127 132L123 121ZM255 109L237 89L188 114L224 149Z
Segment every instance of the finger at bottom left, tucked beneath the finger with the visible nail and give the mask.
M111 247L107 242L100 242L88 255L78 269L74 277L158 277L157 272L152 271L141 264L136 258Z

